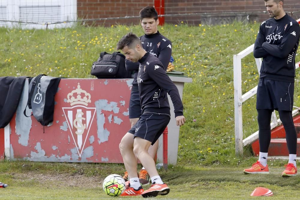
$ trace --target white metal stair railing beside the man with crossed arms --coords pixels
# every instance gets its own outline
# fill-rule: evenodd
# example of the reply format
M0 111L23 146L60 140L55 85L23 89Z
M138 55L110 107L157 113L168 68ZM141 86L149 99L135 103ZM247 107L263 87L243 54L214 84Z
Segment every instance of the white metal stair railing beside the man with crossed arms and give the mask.
M297 20L300 24L300 19ZM243 118L242 118L242 103L252 97L257 92L257 86L242 95L242 79L241 79L241 59L253 52L254 44L244 49L240 53L233 55L233 84L234 84L234 124L235 124L235 154L242 155L243 147L251 144L258 139L258 131L243 139ZM262 64L261 58L255 58L258 73ZM295 67L299 67L298 62ZM297 115L299 110L293 110L292 115ZM277 119L275 112L272 113L271 129L280 125L280 119Z

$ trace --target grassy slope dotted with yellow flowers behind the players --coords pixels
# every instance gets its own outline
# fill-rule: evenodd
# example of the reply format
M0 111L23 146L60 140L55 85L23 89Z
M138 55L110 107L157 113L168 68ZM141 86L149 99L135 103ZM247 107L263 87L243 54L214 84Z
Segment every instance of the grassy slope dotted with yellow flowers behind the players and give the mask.
M232 55L254 43L259 23L190 27L165 25L159 31L173 42L176 70L193 83L184 88L187 123L180 130L179 164L236 166L252 163L235 157ZM83 27L54 30L0 28L0 76L91 78L91 63L102 51L113 52L127 32L142 35L136 26ZM298 55L296 60L300 60ZM253 55L242 60L243 93L258 82ZM299 74L296 84L299 82ZM299 106L295 87L295 105ZM255 97L243 106L244 138L257 130Z

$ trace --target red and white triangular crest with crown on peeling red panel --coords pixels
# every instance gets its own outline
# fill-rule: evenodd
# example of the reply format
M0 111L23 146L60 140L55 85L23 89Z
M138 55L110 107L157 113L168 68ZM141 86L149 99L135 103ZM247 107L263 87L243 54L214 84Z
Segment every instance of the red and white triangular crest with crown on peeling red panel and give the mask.
M91 95L82 90L79 83L77 89L67 95L67 103L70 103L72 107L64 107L62 110L79 157L81 157L96 108L87 107L88 103L91 103Z

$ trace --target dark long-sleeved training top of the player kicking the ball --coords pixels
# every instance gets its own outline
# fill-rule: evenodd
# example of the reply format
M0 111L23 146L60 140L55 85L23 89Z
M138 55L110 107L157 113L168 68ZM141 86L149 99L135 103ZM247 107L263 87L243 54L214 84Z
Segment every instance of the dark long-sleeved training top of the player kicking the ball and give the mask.
M178 89L167 75L161 61L147 52L139 63L137 82L143 113L170 115L168 93L174 105L175 117L183 115Z

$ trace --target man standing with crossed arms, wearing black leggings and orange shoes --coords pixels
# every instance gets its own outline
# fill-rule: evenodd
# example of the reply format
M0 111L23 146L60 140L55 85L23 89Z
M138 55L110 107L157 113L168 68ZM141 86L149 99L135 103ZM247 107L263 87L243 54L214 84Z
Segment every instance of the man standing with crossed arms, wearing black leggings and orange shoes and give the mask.
M289 162L282 176L297 174L297 133L292 118L295 55L299 44L298 22L283 10L283 0L265 0L270 19L262 22L254 44L254 57L263 58L257 87L256 109L259 126L259 160L245 174L268 174L271 114L278 110L286 132Z

